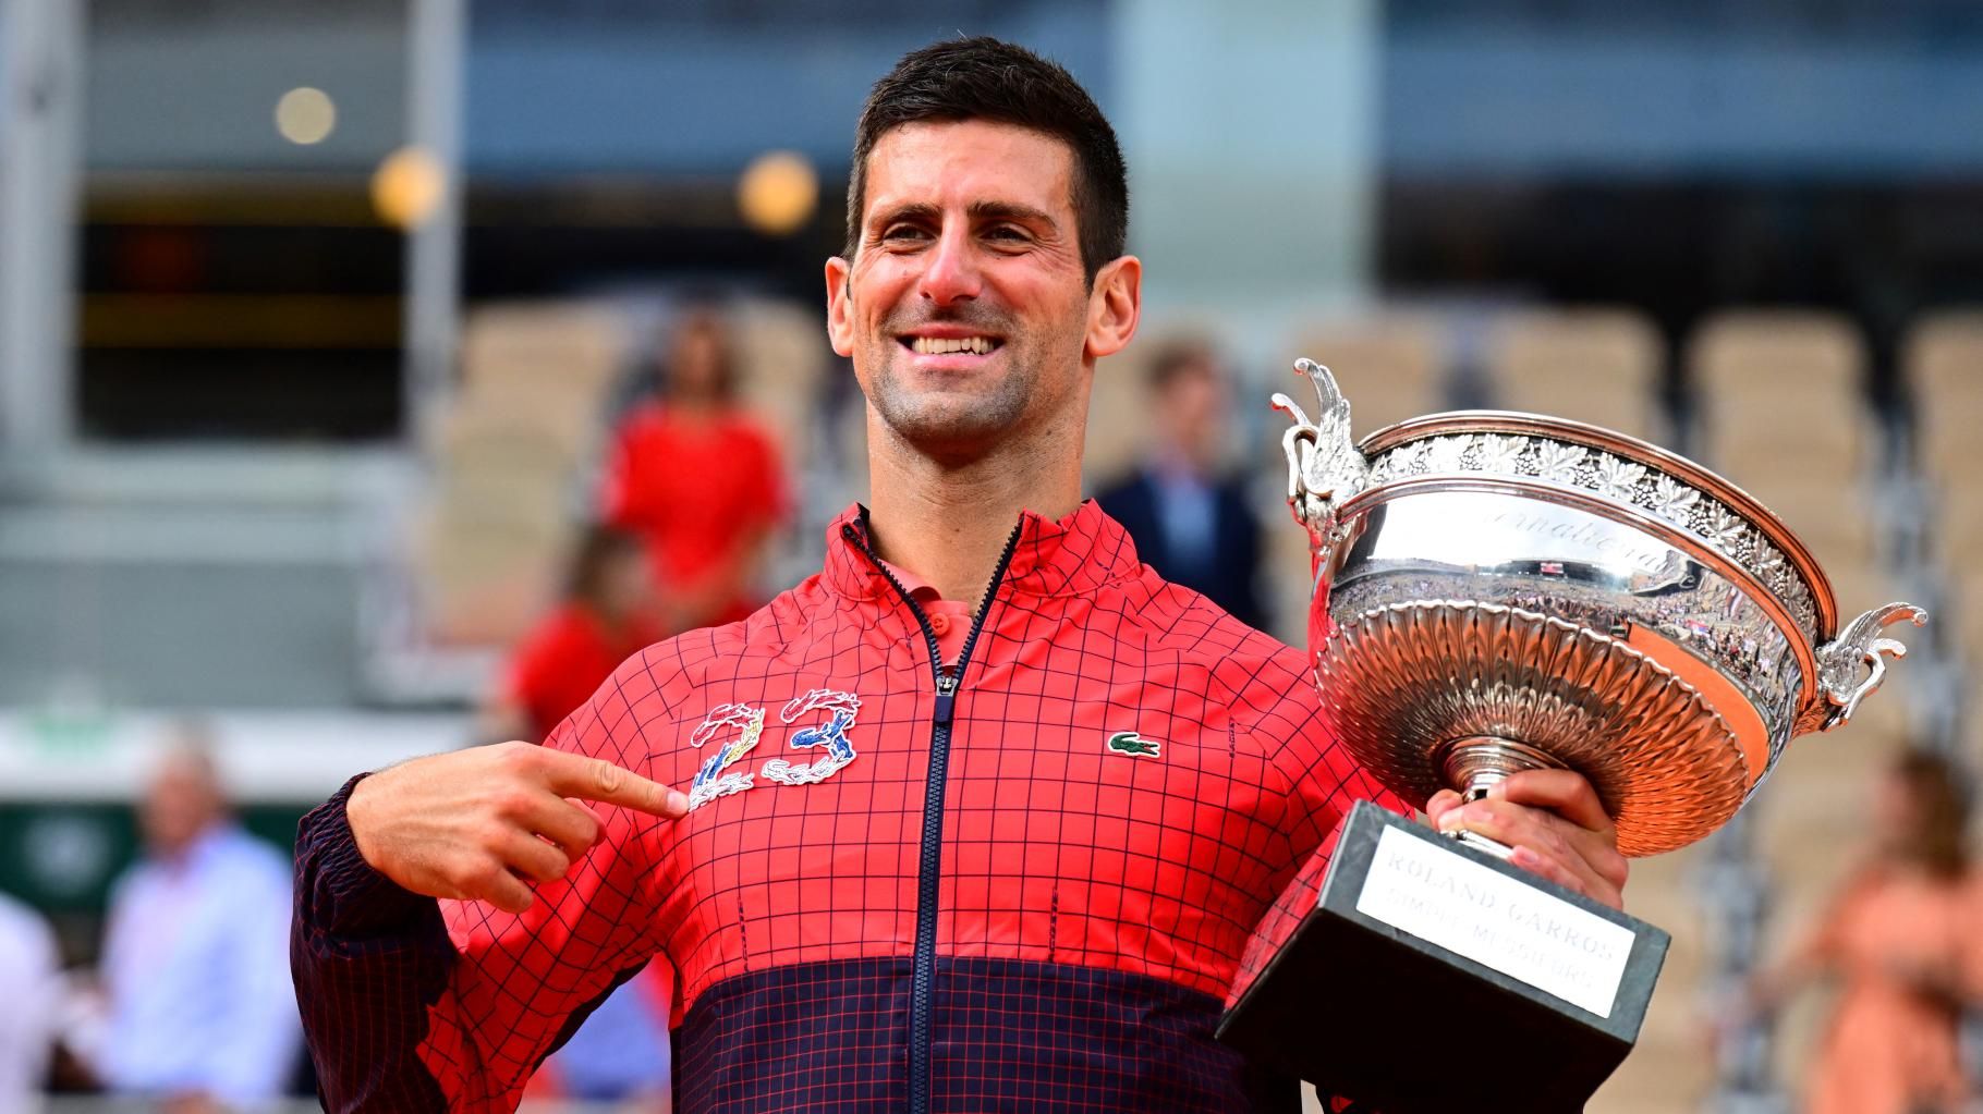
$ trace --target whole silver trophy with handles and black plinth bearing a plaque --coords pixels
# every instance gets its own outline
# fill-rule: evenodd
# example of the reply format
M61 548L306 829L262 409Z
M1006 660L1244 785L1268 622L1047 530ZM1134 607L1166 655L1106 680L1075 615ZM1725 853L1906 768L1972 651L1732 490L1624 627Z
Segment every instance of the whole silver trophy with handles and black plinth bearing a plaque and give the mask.
M1735 815L1795 735L1844 724L1880 686L1886 658L1906 652L1882 636L1888 624L1925 622L1892 603L1840 628L1824 573L1781 519L1652 444L1495 410L1412 418L1358 444L1329 369L1295 371L1315 385L1315 418L1285 394L1273 404L1293 418L1281 444L1313 553L1323 716L1414 807L1440 789L1477 799L1515 771L1571 767L1596 789L1622 852L1686 846ZM1311 961L1329 971L1309 977L1354 979L1337 969L1354 965L1392 985L1430 979L1432 997L1473 993L1503 1013L1505 1027L1465 1013L1485 1021L1467 1041L1499 1060L1495 1076L1523 1078L1509 1060L1549 1049L1509 1084L1509 1108L1580 1108L1636 1041L1666 934L1513 870L1491 840L1459 840L1471 846L1358 807L1295 934L1327 940L1327 953L1283 942L1265 975L1241 979L1222 1037L1263 1033ZM1573 922L1588 932L1563 928ZM1364 1100L1388 1112L1501 1108L1475 1074L1446 1092L1410 1057L1388 1068L1386 1049L1408 1039L1376 1029L1354 1027L1333 1053L1255 1045L1297 1070L1368 1076Z

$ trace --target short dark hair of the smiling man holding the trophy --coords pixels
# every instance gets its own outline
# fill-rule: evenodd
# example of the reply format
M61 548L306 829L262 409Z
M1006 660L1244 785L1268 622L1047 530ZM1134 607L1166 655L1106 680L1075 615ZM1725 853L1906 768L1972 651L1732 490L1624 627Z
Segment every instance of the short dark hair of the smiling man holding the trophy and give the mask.
M894 63L861 109L847 182L847 258L861 244L867 159L875 143L906 123L984 119L1051 135L1075 155L1073 206L1081 270L1089 285L1128 242L1128 170L1108 117L1055 61L995 38L968 38L912 50Z

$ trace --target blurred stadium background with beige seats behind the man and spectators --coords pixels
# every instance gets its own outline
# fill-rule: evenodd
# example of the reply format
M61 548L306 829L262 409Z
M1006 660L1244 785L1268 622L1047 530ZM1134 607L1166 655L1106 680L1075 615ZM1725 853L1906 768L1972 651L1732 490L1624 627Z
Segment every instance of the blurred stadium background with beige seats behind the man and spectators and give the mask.
M1983 718L1983 6L1973 0L0 0L0 890L97 957L131 805L198 712L250 827L464 745L553 601L613 416L716 299L803 577L865 492L825 347L867 85L999 34L1122 133L1144 339L1212 337L1297 638L1265 394L1360 432L1493 404L1723 470L1840 605L1929 630L1721 836L1638 864L1674 932L1594 1110L1783 1110L1824 1005L1715 1023L1850 868L1878 769ZM1327 1009L1327 1003L1319 1003Z

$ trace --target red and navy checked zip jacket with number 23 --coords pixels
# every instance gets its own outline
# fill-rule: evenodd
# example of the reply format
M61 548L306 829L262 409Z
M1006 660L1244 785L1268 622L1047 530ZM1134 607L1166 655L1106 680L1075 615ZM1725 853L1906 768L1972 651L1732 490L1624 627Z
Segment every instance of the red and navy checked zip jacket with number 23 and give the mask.
M512 1110L652 959L684 1114L1299 1110L1212 1031L1350 803L1400 807L1311 678L1095 503L1021 515L946 666L853 507L819 575L635 654L553 731L692 809L601 807L525 914L371 870L349 785L305 817L293 967L325 1106Z

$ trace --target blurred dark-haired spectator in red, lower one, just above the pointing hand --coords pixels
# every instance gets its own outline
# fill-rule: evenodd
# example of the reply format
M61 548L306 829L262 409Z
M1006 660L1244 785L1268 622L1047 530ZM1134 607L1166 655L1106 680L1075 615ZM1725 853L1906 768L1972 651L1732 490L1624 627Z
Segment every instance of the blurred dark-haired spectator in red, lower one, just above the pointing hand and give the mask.
M621 662L662 636L641 539L591 527L571 559L563 603L524 636L476 737L543 741Z

